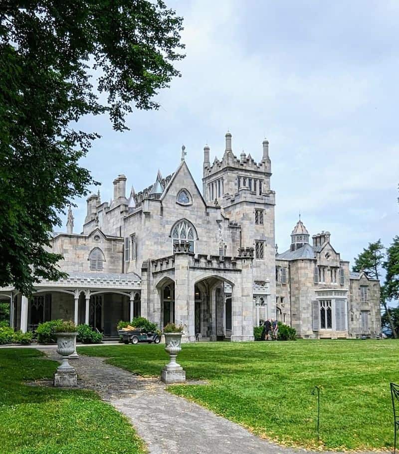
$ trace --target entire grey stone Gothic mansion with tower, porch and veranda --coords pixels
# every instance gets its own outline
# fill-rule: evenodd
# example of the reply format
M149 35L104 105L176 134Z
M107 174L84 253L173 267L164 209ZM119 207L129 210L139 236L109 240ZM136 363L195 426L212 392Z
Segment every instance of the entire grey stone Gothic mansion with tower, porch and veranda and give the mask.
M113 199L87 199L81 233L52 238L68 273L42 281L27 298L0 289L10 322L22 331L63 318L89 323L105 337L119 320L141 315L162 329L183 323L188 341L253 340L266 318L293 326L300 337L373 336L380 332L379 282L351 273L330 242L312 237L301 220L290 248L275 247L275 192L270 186L269 143L261 160L233 154L225 135L221 160L203 150L202 190L185 161L140 192L126 193L126 176L113 182ZM287 235L288 236L288 235Z

